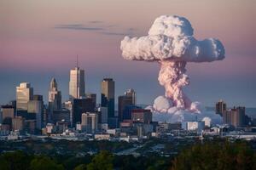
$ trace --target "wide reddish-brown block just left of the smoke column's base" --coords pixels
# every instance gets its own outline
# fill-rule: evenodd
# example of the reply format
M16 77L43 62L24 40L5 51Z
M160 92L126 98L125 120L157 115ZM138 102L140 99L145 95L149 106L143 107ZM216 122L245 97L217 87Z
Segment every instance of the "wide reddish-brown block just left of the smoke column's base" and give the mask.
M152 122L152 112L150 110L134 109L131 111L131 120L133 122L143 122L149 124Z

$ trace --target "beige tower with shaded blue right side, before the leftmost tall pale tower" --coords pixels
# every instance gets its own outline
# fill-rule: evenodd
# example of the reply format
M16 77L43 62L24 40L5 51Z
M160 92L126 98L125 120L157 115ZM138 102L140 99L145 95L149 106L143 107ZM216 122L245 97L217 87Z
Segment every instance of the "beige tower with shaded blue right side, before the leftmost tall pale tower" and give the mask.
M41 129L44 120L44 101L42 95L34 95L27 103L27 120L36 120L37 129Z

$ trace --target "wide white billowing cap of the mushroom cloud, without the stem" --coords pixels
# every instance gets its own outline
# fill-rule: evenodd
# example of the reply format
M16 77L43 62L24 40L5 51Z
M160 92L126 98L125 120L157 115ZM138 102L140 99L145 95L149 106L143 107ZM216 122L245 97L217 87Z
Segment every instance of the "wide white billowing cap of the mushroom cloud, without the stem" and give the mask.
M121 41L124 59L211 62L224 59L224 46L215 38L198 41L189 20L162 15L154 20L148 36L125 37Z

